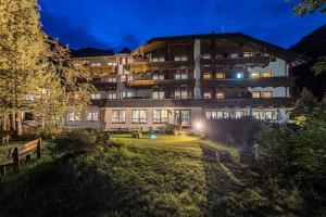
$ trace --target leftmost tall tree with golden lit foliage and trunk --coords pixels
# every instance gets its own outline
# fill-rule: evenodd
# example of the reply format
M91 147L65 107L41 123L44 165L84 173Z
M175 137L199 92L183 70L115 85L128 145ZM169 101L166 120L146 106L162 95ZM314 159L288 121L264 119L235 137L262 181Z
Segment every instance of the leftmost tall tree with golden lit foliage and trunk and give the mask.
M0 102L22 135L22 110L36 88L42 37L36 0L0 0Z

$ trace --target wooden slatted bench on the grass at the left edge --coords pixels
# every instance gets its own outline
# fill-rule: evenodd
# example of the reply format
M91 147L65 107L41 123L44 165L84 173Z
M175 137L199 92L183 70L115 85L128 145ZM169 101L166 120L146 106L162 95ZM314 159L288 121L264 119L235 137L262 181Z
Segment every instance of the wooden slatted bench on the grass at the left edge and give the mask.
M12 166L14 173L20 173L21 158L26 157L26 162L30 162L33 153L36 153L37 158L41 158L41 139L36 139L10 149L7 159L0 161L2 174L5 175L8 166Z

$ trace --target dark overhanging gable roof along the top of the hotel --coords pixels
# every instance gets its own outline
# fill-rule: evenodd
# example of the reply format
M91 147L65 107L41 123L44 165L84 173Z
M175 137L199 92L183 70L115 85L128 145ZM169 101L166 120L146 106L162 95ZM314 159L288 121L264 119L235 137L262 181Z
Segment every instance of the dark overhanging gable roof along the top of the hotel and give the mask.
M225 34L202 34L202 35L186 35L186 36L167 36L167 37L154 37L147 41L145 46L150 46L151 43L162 42L162 41L174 41L174 40L185 40L185 39L206 39L206 38L222 38L229 39L236 42L248 42L251 46L256 47L258 49L264 50L264 52L273 54L275 56L279 56L280 59L287 61L299 61L306 62L309 61L305 56L299 56L298 53L284 49L279 46L275 46L269 42L265 42L263 40L253 38L251 36L241 34L241 33L225 33Z

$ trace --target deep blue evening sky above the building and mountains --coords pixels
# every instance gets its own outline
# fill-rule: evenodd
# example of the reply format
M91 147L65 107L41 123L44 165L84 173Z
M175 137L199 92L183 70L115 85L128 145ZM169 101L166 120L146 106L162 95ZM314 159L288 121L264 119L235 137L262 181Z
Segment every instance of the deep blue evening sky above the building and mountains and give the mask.
M293 3L286 0L39 0L39 3L45 31L74 49L134 49L155 36L220 33L221 20L227 33L241 31L288 48L326 23L326 15L319 13L297 17L291 10Z

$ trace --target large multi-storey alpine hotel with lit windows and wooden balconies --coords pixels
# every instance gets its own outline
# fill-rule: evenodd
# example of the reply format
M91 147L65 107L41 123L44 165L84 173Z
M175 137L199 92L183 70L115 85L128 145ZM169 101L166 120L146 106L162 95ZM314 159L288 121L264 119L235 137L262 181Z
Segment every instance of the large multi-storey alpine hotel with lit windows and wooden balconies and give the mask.
M243 34L153 38L134 52L74 58L103 77L92 106L71 110L66 127L160 129L203 119L253 116L285 123L293 99L296 53Z

